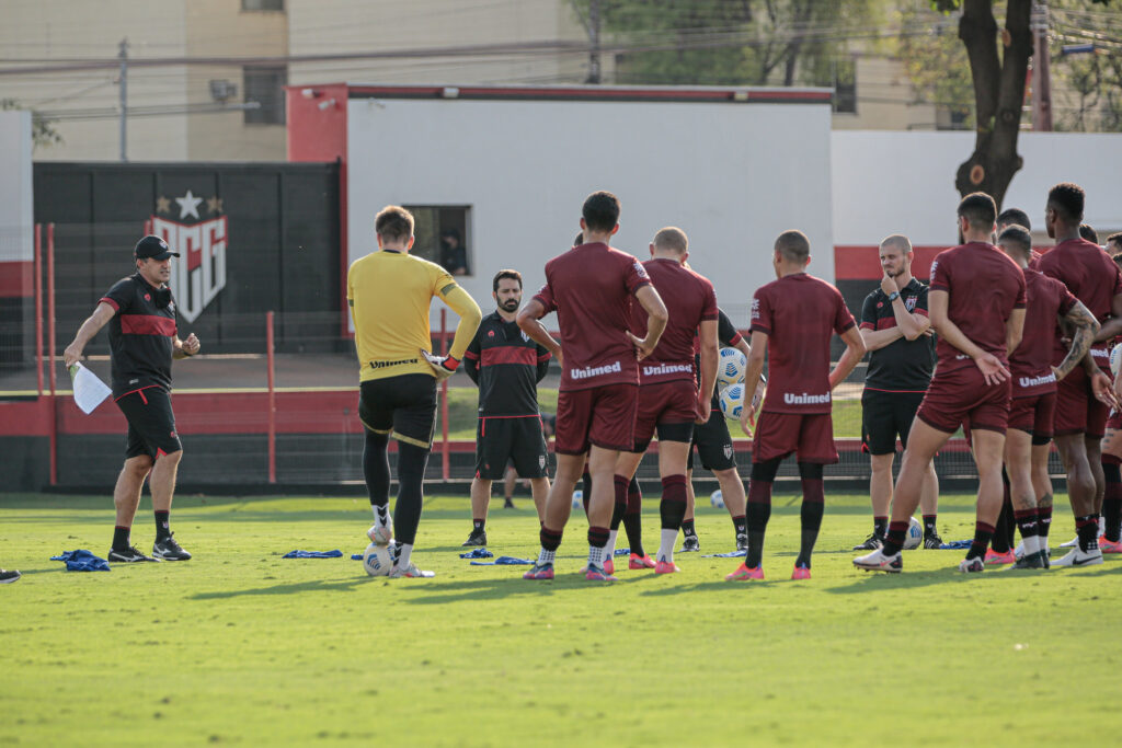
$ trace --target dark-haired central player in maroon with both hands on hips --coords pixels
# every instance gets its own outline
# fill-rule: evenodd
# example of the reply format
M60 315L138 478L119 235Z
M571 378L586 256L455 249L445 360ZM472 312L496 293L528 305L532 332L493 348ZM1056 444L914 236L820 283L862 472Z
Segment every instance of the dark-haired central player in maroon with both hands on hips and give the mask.
M666 307L637 259L608 246L619 230L619 200L595 192L585 201L583 244L545 264L545 285L518 313L518 326L562 364L554 451L558 470L545 500L537 562L524 579L553 579L553 560L569 514L572 491L588 453L592 488L588 506L586 579L614 581L604 571L604 547L615 501L619 453L635 443L638 361L651 354L666 326ZM647 313L646 338L628 331L632 297ZM540 320L558 313L561 342ZM636 357L637 351L637 357Z

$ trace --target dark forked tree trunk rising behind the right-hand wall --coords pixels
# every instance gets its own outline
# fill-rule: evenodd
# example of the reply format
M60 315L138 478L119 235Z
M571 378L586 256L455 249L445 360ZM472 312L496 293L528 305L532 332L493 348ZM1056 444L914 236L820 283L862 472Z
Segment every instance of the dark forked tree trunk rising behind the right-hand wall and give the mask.
M1017 138L1032 54L1031 12L1032 0L1010 0L1000 59L997 21L990 0L966 0L958 21L958 38L966 45L974 77L977 132L974 153L958 167L955 187L960 195L990 194L999 210L1013 175L1023 164L1017 153Z

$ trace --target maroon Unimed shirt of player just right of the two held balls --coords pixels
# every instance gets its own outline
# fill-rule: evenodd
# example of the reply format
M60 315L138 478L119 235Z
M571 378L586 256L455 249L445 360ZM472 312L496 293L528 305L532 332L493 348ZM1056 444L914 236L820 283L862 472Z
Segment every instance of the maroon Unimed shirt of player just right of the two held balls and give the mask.
M830 336L856 324L837 288L797 273L761 286L752 332L767 335L766 413L829 413Z

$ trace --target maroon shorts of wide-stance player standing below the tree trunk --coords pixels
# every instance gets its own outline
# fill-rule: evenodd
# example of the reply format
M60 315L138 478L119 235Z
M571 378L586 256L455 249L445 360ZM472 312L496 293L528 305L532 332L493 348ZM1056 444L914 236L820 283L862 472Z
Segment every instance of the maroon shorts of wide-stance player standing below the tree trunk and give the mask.
M955 433L964 423L969 423L972 430L1004 434L1009 426L1012 393L1011 379L1000 385L986 385L982 372L973 363L941 373L936 369L916 417L947 434Z

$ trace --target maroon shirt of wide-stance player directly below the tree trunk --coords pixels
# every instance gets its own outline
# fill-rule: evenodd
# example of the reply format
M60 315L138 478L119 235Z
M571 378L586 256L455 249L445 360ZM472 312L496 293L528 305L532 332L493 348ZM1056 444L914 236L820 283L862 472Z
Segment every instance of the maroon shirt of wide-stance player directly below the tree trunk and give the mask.
M947 316L964 335L1002 363L1009 363L1005 323L1013 310L1024 308L1026 301L1024 274L1017 262L993 244L981 241L945 249L931 264L931 290L945 290L950 296ZM971 357L942 335L935 352L937 371L974 366Z

